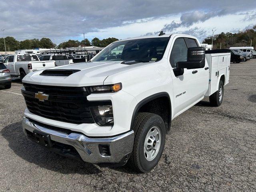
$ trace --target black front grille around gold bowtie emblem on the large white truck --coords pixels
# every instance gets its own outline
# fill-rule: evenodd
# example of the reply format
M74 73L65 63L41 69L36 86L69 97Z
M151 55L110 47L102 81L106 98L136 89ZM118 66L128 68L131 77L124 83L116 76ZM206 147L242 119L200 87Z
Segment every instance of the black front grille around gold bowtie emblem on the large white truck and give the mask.
M35 93L49 95L48 100L40 101ZM25 84L22 89L28 110L44 118L81 124L94 123L90 106L109 105L111 101L89 102L88 93L82 87L62 87Z

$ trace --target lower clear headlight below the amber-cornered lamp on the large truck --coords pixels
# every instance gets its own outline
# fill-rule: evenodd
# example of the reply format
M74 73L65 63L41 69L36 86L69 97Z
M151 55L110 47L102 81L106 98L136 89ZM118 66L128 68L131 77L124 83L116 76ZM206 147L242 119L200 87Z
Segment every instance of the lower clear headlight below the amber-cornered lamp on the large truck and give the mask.
M112 105L90 107L92 118L100 126L113 126L114 116Z

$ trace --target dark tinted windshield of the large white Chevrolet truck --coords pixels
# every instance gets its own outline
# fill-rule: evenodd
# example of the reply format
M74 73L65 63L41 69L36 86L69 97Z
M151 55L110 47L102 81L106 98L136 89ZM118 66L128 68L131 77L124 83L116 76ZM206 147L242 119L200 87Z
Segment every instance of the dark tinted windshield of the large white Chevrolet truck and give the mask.
M145 38L114 42L92 61L156 62L162 59L170 37Z

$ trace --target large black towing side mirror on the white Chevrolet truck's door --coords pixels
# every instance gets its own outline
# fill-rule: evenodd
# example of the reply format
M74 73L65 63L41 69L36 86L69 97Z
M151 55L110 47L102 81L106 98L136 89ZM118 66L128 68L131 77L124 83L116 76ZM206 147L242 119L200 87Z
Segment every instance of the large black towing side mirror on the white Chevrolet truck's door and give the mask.
M205 66L205 48L190 47L188 48L187 61L177 62L176 68L198 69Z

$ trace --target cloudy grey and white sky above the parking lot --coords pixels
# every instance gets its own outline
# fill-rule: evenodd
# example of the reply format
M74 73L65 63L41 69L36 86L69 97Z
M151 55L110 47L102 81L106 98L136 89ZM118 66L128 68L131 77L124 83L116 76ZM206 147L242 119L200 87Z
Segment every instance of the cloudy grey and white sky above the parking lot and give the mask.
M56 44L94 37L124 39L186 33L203 40L256 24L256 0L1 0L0 29L17 40ZM2 33L0 37L2 37Z

